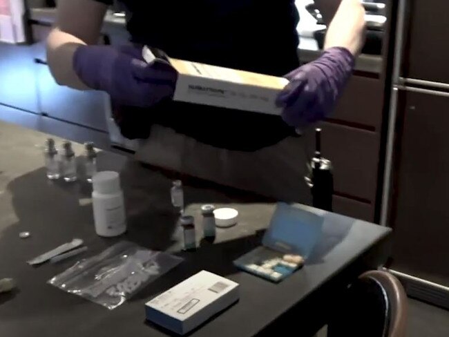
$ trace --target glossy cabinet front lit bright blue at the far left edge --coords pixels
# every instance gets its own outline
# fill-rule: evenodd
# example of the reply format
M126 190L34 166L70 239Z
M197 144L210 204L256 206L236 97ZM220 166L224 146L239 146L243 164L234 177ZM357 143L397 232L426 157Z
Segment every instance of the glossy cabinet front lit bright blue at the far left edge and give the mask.
M0 43L0 104L38 113L35 78L32 48Z

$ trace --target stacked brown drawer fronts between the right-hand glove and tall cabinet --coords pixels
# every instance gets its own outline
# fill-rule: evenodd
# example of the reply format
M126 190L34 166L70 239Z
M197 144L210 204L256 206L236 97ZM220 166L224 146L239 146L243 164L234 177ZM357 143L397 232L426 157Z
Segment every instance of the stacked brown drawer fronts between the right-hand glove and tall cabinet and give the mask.
M321 123L323 155L334 166L334 211L374 221L384 82L354 75L332 115ZM307 147L314 144L307 134Z

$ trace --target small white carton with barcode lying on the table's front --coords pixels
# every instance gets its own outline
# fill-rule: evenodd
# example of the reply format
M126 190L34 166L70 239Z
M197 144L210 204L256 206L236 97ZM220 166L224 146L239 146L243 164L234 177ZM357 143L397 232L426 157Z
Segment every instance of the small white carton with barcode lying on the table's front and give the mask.
M238 283L203 270L146 302L146 319L187 334L238 298Z

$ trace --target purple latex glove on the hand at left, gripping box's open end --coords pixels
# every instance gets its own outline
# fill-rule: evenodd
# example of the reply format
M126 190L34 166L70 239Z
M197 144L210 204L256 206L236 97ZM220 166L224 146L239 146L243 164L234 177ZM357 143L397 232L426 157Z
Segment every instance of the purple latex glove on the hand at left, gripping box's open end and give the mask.
M106 91L113 102L146 108L173 97L177 73L166 61L147 64L141 52L135 46L81 46L73 67L86 86Z

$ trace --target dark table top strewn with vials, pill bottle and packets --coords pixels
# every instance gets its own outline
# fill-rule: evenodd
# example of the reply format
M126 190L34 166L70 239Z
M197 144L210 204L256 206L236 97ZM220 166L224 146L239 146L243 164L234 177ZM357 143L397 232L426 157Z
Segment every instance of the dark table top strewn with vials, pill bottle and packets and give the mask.
M20 142L12 139L17 133L22 135ZM0 123L0 142L15 146L20 153L11 157L6 148L0 148L0 278L12 277L18 283L15 293L0 295L0 336L166 336L166 331L145 322L144 303L202 269L238 282L240 300L191 335L254 336L375 249L390 233L384 227L323 212L323 233L311 258L303 269L276 285L240 272L232 264L260 243L274 211L271 200L185 178L188 213L199 216L200 206L206 203L231 205L240 212L240 220L236 227L218 229L216 243L202 244L195 253L181 252L171 241L175 215L169 189L173 176L104 152L99 155L99 167L121 171L128 232L122 238L99 238L88 199L90 186L46 180L41 153L34 146L42 144L45 137ZM21 231L30 231L31 237L21 240ZM86 242L85 256L126 239L173 251L185 260L135 298L109 311L46 283L76 259L37 268L26 264L72 238Z

